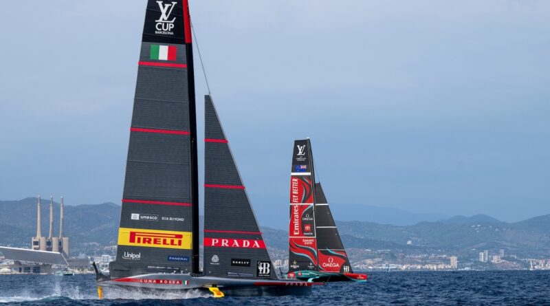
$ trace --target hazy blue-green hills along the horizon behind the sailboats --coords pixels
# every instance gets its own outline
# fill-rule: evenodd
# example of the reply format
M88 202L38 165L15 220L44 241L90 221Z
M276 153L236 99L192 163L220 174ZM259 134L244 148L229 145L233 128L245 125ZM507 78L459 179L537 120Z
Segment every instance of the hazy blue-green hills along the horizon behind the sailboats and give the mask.
M48 234L49 199L42 201L42 234ZM338 210L340 211L340 210ZM59 204L54 203L54 234L59 230ZM372 214L371 214L372 215ZM117 239L120 206L65 205L65 233L71 252L93 254ZM356 215L357 218L362 217ZM550 215L516 223L498 221L487 215L456 216L413 225L389 225L368 221L337 221L347 248L394 250L398 252L439 252L472 256L479 250L505 249L523 256L550 253ZM287 230L262 227L267 245L287 250ZM0 201L0 245L30 247L36 234L36 198ZM410 241L410 245L408 245Z

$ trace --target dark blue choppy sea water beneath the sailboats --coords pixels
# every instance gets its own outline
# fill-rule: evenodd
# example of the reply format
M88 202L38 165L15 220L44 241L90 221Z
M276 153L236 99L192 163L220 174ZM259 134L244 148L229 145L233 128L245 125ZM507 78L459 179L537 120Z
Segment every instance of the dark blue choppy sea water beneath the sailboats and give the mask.
M550 271L371 272L311 296L211 298L128 294L98 300L94 275L2 275L0 305L550 305Z

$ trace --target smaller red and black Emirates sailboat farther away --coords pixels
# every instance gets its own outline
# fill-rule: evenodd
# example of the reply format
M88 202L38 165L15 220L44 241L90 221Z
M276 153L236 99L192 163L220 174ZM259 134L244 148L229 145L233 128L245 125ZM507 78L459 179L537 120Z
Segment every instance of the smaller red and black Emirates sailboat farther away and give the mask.
M351 270L320 183L315 181L311 142L296 140L290 177L289 278L366 281Z

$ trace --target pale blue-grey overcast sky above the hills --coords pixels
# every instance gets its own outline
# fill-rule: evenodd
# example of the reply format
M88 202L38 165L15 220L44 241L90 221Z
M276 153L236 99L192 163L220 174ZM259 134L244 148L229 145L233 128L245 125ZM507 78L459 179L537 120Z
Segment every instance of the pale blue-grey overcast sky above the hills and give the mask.
M0 199L120 204L145 4L2 3ZM331 203L550 213L549 1L190 0L190 12L262 225L288 218L306 137Z

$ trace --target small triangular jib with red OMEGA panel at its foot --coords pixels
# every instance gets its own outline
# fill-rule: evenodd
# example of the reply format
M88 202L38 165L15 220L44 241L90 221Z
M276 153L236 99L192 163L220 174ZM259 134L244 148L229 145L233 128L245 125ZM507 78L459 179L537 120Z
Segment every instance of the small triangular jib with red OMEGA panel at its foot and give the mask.
M353 273L320 183L315 184L315 221L319 271Z

